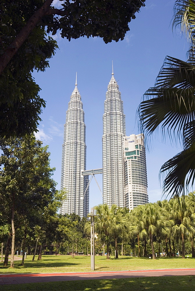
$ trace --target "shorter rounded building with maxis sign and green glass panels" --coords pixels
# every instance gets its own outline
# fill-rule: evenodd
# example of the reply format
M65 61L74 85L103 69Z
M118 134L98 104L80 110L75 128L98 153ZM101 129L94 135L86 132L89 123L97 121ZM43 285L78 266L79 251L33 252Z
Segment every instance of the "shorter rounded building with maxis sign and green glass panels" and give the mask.
M124 137L125 207L148 203L146 153L143 134Z

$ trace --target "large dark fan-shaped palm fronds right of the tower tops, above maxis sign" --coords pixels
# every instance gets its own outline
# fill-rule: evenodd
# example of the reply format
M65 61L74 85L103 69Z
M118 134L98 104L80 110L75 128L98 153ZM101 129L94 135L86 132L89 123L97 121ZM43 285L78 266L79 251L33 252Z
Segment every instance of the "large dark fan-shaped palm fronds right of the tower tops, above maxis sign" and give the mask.
M183 128L195 118L195 66L167 57L138 108L140 130L146 143L161 125L163 140L183 138Z

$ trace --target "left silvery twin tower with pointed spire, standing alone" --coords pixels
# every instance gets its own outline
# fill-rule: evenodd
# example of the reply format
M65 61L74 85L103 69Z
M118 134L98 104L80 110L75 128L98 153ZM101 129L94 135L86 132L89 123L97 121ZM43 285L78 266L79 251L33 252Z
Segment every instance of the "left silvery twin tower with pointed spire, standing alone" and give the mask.
M60 214L76 213L86 217L89 213L89 176L82 176L86 170L86 144L83 103L77 88L70 97L64 125L62 145L61 189L67 190L67 200L60 208ZM85 194L85 195L84 195Z

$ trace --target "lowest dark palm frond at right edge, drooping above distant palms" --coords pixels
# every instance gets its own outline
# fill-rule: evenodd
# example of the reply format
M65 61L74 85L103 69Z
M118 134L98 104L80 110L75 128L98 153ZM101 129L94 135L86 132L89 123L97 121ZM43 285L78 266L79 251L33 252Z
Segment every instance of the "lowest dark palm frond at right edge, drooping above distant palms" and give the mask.
M195 142L162 165L160 174L166 175L163 183L166 196L182 194L184 197L185 189L195 180Z

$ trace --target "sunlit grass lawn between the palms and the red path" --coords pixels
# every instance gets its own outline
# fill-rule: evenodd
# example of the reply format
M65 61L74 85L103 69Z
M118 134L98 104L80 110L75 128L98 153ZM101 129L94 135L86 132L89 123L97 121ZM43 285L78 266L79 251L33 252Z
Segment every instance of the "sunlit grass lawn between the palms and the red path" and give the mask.
M70 255L42 255L42 260L32 262L32 256L27 256L24 266L19 266L21 261L15 261L14 269L3 267L0 262L0 274L3 273L57 273L57 272L89 272L91 261L87 256ZM105 256L95 256L95 271L123 271L144 269L171 269L171 268L195 268L195 258L182 259L180 257L157 258L135 258L121 256L119 259L106 260Z

